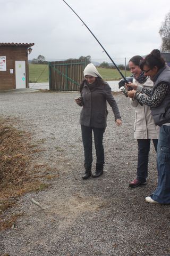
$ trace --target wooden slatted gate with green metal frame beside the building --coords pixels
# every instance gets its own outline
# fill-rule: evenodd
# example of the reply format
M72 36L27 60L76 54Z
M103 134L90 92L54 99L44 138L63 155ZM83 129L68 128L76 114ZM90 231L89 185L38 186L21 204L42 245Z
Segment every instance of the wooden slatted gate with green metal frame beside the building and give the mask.
M78 91L86 60L49 62L49 90Z

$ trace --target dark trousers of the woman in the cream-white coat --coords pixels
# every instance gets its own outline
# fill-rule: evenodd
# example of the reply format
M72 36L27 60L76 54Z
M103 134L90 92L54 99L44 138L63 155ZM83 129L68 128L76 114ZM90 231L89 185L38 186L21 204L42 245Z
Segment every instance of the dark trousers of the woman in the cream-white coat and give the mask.
M153 139L155 151L157 151L158 140ZM149 161L150 139L138 139L138 166L137 166L137 179L145 182L148 177L148 161Z

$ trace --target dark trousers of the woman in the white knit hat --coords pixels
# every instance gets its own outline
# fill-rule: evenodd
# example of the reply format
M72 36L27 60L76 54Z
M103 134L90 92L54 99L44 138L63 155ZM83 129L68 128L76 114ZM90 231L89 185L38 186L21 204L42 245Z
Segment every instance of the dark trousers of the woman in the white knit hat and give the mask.
M104 164L105 155L103 147L103 134L105 129L88 127L81 125L82 141L84 147L84 164L86 166L92 163L92 131L94 132L96 164Z

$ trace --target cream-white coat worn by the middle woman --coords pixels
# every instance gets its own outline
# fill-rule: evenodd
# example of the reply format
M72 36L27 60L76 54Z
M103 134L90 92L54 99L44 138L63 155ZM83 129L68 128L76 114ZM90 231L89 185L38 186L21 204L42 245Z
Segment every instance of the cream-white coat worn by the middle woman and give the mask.
M133 83L152 88L154 83L148 77L144 84L140 84L133 78ZM130 99L131 105L135 107L134 139L158 139L159 126L156 126L151 115L150 107L140 105L138 100Z

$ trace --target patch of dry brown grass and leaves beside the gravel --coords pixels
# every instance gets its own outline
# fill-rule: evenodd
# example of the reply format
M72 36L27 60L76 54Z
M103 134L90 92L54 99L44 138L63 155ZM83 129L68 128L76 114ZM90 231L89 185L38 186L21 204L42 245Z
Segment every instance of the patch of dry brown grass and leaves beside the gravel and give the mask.
M18 197L30 191L45 189L48 184L42 182L50 177L50 167L46 165L31 166L33 154L38 149L32 147L29 133L19 131L0 118L0 230L9 227L16 216L4 220L4 212L13 206ZM35 176L38 169L45 167L47 174ZM46 177L47 176L47 177ZM56 177L56 175L54 175Z

